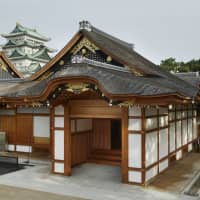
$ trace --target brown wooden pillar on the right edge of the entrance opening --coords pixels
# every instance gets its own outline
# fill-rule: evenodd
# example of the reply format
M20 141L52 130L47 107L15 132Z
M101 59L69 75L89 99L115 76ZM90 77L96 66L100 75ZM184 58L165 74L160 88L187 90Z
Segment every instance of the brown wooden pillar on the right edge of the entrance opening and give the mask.
M122 108L122 182L128 183L128 108Z

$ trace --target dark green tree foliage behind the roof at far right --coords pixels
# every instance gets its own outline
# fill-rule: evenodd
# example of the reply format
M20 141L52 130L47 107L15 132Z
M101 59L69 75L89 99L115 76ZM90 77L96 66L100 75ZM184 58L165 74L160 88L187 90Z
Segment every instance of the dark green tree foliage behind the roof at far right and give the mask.
M200 59L193 59L188 62L177 62L175 58L162 60L160 67L171 72L197 72L200 71Z

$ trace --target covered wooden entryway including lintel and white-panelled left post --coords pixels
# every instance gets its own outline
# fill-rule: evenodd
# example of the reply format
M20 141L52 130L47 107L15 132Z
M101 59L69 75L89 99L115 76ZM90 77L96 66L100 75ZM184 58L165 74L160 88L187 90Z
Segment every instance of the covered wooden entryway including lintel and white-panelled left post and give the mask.
M73 174L87 162L122 166L123 108L104 100L69 100L52 109L52 172Z

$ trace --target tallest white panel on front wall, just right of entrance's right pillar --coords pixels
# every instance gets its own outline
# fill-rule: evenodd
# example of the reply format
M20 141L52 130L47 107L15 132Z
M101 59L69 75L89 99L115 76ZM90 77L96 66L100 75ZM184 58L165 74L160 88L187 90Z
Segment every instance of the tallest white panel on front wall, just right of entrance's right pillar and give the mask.
M141 135L129 134L128 135L128 166L141 168L142 147Z

